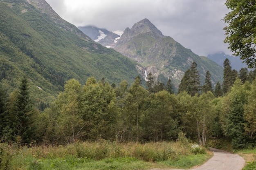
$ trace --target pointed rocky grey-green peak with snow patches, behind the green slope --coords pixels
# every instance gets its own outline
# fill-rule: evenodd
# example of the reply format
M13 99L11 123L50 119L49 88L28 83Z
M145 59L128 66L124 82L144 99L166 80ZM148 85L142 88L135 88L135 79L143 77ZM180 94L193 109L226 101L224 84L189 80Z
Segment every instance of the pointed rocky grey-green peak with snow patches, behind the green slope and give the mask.
M85 26L83 28L87 28L87 30L93 29L97 33L92 36L90 34L92 31L86 31L79 27L92 40L99 38L100 32L105 32L106 37L112 35L112 33L108 34L105 29L94 26ZM168 79L171 79L177 88L184 72L195 61L198 64L202 83L204 82L207 70L211 73L213 85L218 81L222 82L223 68L220 65L207 57L196 55L170 36L163 35L146 18L135 23L131 29L126 28L120 38L104 39L102 38L98 42L139 62L141 66L138 66L138 69L144 77L146 77L147 73L151 72L158 81L166 83Z

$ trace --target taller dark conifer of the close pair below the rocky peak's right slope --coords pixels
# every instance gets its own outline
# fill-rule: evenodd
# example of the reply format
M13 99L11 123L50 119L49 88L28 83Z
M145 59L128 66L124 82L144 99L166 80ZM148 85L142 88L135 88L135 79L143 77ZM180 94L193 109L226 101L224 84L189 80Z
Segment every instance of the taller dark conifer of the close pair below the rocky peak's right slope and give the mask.
M200 82L200 75L199 75L199 71L197 69L197 64L196 62L193 62L191 64L191 67L190 67L190 91L188 91L188 93L191 95L191 96L194 96L196 93L200 93L200 90L201 90L201 82Z

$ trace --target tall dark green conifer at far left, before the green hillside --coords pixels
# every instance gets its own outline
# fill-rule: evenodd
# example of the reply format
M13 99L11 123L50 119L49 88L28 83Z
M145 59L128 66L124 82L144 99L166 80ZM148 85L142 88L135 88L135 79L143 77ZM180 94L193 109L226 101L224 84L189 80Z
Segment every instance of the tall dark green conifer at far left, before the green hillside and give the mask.
M35 137L33 127L32 103L29 96L29 84L27 77L23 77L20 83L18 96L14 103L13 131L17 142L30 144Z

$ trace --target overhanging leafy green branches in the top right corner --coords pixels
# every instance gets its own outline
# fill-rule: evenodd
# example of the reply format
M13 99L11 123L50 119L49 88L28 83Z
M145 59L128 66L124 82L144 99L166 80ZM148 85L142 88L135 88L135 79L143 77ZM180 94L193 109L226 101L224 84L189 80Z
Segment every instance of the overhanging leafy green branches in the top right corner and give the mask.
M256 24L254 11L256 2L253 0L227 0L225 5L230 9L224 21L228 24L224 28L226 31L225 43L229 44L229 49L234 55L240 56L249 68L254 68L256 60L254 58Z

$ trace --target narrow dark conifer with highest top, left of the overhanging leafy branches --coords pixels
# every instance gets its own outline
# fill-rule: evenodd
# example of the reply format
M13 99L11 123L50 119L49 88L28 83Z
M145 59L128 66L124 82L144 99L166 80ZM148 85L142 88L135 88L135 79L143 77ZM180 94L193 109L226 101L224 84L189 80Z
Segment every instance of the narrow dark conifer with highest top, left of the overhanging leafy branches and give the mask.
M228 91L230 91L231 86L234 84L234 72L232 73L232 66L231 63L229 61L228 58L225 59L225 61L223 62L223 67L224 67L224 71L223 71L223 83L222 83L222 90L223 93L227 93Z

